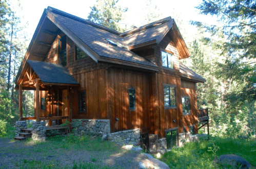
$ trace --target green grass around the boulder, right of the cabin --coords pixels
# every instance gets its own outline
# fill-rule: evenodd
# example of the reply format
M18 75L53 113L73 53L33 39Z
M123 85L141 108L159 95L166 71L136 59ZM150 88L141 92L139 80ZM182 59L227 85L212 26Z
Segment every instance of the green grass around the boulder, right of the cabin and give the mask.
M208 151L210 147L213 147L213 143L220 147L220 150L216 152L217 157L223 154L235 154L256 166L255 140L221 137L211 137L210 140L187 143L182 148L172 149L165 153L160 160L164 161L170 168L215 168L214 153ZM216 168L223 167L217 166Z

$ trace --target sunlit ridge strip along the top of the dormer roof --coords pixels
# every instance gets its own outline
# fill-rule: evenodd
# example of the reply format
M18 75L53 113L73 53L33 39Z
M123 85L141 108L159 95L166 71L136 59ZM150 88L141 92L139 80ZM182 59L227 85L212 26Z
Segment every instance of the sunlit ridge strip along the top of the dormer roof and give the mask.
M127 36L127 35L130 35L130 34L133 34L135 32L140 32L142 30L145 30L145 29L148 29L148 28L151 28L151 27L154 27L160 23L165 23L165 22L168 22L171 20L171 17L166 17L166 18L163 18L163 19L160 19L160 20L156 20L154 22L151 22L151 23L148 23L147 25L144 25L144 26L141 26L141 27L138 27L138 28L135 28L135 29L132 29L130 31L127 31L127 32L124 32L124 33L121 33L119 36L120 37L124 37L124 36Z

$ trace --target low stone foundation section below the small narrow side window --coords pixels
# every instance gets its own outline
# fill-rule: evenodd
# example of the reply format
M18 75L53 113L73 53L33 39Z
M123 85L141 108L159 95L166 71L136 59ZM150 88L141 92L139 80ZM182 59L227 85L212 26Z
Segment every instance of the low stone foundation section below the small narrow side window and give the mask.
M140 136L140 129L133 129L110 133L108 140L120 145L132 144L136 146L140 142Z

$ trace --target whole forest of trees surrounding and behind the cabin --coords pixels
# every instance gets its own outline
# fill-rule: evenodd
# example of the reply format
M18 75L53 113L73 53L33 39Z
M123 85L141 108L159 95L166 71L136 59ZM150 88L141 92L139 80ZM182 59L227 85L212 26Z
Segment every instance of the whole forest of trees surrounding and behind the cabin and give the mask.
M21 22L19 1L0 0L0 136L19 118L18 92L14 79L27 50L27 23ZM146 0L143 24L162 19L152 0ZM124 14L129 10L116 0L97 0L88 19L123 32ZM252 0L207 0L196 7L202 15L212 15L216 25L191 20L184 22L170 12L189 48L186 66L204 77L197 84L198 108L208 108L212 135L237 138L256 130L256 2ZM133 26L127 23L126 26ZM197 33L188 37L187 25ZM189 35L191 37L191 35ZM24 115L33 116L33 93L23 91Z

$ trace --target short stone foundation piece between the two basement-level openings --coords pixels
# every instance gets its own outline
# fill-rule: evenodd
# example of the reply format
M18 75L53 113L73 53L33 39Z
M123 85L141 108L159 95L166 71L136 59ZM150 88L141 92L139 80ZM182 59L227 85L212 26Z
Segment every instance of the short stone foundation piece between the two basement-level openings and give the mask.
M167 150L166 138L158 139L157 134L149 134L149 152L164 154Z

